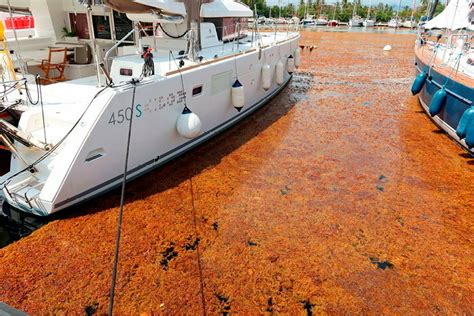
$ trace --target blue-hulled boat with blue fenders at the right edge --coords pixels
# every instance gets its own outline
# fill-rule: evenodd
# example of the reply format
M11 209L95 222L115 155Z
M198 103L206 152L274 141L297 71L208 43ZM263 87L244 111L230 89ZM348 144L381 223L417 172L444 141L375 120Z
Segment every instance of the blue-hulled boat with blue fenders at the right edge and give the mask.
M470 13L469 0L452 0L419 29L417 76L411 91L432 120L474 155L474 21Z

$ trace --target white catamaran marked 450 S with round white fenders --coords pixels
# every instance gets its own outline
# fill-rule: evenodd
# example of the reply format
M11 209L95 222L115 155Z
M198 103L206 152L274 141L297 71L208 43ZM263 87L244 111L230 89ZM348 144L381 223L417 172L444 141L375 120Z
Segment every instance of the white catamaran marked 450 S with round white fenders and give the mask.
M63 17L85 14L96 48L94 37L108 29L95 14L127 12L135 28L122 39L115 39L117 25L110 29L107 53L94 54L93 76L47 86L4 81L10 89L2 106L21 106L17 126L0 120L12 151L10 171L0 178L6 207L47 216L119 186L124 175L136 178L250 115L300 62L299 33L246 34L240 23L254 13L240 2L82 2L89 3L74 12L71 0L31 0L32 13L49 19L53 31L64 27ZM154 26L152 35L143 23ZM126 41L132 46L110 58Z

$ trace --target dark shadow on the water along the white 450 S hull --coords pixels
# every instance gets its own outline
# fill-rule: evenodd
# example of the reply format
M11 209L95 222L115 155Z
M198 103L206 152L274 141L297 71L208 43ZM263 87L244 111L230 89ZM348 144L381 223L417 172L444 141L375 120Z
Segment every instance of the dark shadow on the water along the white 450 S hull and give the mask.
M282 92L247 118L182 156L130 181L127 184L126 202L141 200L150 195L166 191L203 170L219 164L222 158L256 137L279 118L285 116L300 99L304 98L306 92L311 88L312 77L310 73L295 73L293 79ZM133 153L131 154L133 155ZM46 224L46 221L80 217L118 207L120 192L120 188L114 189L88 202L54 214L47 219L41 219L42 223L38 226L41 227ZM0 248L28 235L30 232L29 227L18 226L0 216Z

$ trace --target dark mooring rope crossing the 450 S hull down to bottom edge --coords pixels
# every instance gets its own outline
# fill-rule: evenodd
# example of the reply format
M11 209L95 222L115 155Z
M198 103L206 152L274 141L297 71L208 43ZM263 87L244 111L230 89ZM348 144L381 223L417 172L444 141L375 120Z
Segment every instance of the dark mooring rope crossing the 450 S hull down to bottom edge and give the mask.
M117 217L117 235L115 239L114 264L112 268L112 284L110 287L110 297L109 297L109 311L108 311L109 316L112 316L112 313L114 310L115 285L117 283L118 260L119 260L119 255L120 255L120 239L122 236L123 207L124 207L124 201L125 201L125 188L127 184L128 158L130 156L130 140L132 138L132 124L133 124L133 114L134 114L133 109L135 105L135 94L137 90L138 81L135 81L134 79L132 79L131 83L133 84L132 111L130 115L130 123L128 125L127 149L125 152L125 166L124 166L123 180L122 180L122 193L120 195L120 208L119 208L119 213Z

